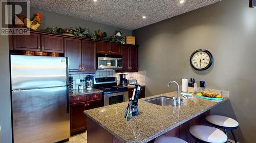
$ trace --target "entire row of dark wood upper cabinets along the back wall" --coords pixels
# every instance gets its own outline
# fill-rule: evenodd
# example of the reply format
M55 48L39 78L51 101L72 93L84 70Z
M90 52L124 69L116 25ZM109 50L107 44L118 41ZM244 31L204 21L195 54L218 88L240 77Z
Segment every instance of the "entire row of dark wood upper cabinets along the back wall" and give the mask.
M30 35L9 36L9 49L14 54L22 53L18 50L62 53L60 56L69 57L69 71L71 73L95 73L97 70L97 53L121 54L123 56L123 68L117 72L138 71L138 46L136 45L122 45L110 41L94 41L80 37L31 31Z

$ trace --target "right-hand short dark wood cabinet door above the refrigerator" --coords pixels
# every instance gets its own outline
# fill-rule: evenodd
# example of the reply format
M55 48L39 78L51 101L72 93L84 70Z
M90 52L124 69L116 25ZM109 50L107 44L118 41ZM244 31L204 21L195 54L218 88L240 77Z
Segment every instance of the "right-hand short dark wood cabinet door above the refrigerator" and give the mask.
M64 52L63 37L41 35L41 49L47 52Z

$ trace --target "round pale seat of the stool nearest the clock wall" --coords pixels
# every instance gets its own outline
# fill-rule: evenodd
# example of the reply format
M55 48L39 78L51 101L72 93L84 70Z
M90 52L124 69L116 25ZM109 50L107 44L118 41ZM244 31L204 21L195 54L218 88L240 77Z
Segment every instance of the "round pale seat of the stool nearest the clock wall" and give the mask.
M220 127L228 127L235 128L238 127L239 123L232 118L220 116L220 115L210 115L205 118L209 123L220 126Z

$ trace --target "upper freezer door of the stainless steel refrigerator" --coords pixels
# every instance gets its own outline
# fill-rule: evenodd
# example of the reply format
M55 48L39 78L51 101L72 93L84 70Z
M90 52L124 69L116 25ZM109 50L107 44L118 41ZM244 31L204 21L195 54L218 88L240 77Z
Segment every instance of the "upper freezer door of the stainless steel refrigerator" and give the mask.
M12 90L67 85L67 60L63 57L11 55Z

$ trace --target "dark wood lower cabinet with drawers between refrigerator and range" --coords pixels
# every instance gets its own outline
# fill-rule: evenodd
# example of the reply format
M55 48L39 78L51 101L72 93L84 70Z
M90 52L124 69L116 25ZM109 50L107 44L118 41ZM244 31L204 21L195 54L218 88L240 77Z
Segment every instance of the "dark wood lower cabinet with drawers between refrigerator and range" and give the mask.
M84 110L103 106L102 93L70 97L70 134L86 131L87 118Z

